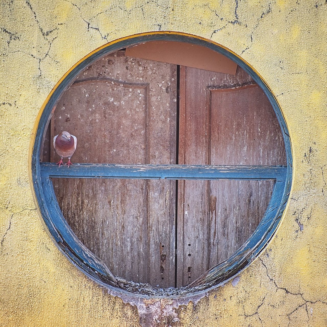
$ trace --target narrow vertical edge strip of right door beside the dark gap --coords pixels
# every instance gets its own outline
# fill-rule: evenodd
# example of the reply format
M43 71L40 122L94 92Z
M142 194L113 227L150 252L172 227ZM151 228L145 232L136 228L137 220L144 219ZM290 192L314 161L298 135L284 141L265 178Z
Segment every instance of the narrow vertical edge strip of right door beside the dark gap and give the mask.
M179 152L178 163L185 163L185 87L186 67L180 66L180 125L179 125ZM184 244L184 181L178 181L177 203L177 287L183 285L183 244Z

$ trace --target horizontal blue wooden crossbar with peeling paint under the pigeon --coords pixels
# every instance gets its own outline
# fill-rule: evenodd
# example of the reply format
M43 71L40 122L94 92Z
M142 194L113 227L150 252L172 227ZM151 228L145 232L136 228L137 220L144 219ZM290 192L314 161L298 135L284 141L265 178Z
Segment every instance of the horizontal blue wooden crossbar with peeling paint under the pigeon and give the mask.
M118 165L40 163L41 177L121 178L167 180L275 180L285 181L286 166Z

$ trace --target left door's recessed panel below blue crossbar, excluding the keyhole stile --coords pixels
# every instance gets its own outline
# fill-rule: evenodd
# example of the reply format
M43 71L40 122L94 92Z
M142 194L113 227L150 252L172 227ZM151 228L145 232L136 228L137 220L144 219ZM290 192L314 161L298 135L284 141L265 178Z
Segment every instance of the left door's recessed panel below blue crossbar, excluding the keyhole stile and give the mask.
M53 179L60 209L82 243L114 275L145 281L144 180Z

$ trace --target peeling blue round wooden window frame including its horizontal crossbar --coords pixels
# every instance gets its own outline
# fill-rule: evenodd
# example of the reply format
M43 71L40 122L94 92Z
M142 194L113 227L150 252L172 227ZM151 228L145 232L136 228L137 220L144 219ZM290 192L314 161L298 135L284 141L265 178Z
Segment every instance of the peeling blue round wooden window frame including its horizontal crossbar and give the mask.
M116 164L76 164L69 169L58 169L54 163L40 163L45 129L56 103L62 93L74 82L75 78L94 61L102 58L110 52L125 48L137 43L153 40L178 41L208 47L217 51L229 59L235 61L243 68L263 89L267 95L282 129L286 150L286 166L215 166L215 165L116 165ZM158 32L156 34L142 34L132 36L127 39L118 40L100 48L86 59L80 61L70 70L66 76L58 83L52 94L44 104L44 109L40 117L36 131L35 142L32 152L32 180L36 200L45 223L46 229L61 252L80 270L97 282L104 283L116 290L117 284L114 282L110 270L88 250L76 237L67 224L59 208L51 178L123 178L123 179L172 179L172 180L273 180L275 181L272 196L268 204L266 213L260 221L254 233L247 242L237 250L231 257L217 266L211 268L190 285L183 287L192 293L193 286L197 286L196 291L206 289L227 280L241 269L246 267L265 247L284 212L292 179L292 152L291 142L287 126L273 93L267 84L257 75L257 73L241 58L222 46L205 39L192 37L189 35L174 34L168 32ZM202 286L201 286L202 285ZM176 294L176 292L175 292ZM184 294L184 293L183 293ZM167 294L166 294L167 295ZM168 294L169 295L169 294Z

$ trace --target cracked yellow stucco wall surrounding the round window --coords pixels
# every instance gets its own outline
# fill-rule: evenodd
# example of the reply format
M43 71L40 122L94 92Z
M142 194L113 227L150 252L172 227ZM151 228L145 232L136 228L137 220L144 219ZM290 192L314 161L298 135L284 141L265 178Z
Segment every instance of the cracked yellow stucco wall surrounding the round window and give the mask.
M8 0L0 10L0 326L138 326L139 316L160 326L327 326L327 1ZM157 30L211 39L258 71L284 113L294 174L276 234L238 283L177 308L146 300L142 311L60 253L29 170L35 122L60 78L107 41Z

